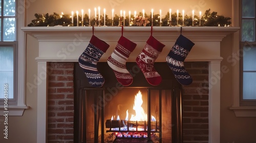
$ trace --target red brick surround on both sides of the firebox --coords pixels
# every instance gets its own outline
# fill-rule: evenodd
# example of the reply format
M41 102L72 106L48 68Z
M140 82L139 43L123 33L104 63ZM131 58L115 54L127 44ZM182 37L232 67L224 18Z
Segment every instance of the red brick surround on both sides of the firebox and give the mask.
M208 63L187 62L193 84L183 86L183 142L208 141ZM72 143L74 62L50 62L48 77L48 143ZM204 91L199 92L198 87ZM205 88L204 88L205 87Z

